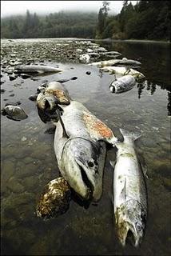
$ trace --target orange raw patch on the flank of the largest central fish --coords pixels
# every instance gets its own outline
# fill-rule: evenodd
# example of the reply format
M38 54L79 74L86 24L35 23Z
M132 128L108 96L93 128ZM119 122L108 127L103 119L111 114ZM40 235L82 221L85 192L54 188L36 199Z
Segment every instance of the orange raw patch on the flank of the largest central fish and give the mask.
M101 122L95 116L91 114L83 114L83 119L85 121L85 126L87 126L88 130L93 130L97 134L100 135L101 138L111 138L113 137L112 130L109 129L105 123Z

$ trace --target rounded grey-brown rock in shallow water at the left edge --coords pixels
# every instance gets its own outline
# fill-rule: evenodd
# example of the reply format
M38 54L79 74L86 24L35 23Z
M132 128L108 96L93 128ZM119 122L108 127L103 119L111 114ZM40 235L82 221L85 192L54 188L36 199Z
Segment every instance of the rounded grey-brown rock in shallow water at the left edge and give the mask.
M21 121L28 118L28 115L20 106L7 105L2 108L2 115L6 115L6 118L14 121Z

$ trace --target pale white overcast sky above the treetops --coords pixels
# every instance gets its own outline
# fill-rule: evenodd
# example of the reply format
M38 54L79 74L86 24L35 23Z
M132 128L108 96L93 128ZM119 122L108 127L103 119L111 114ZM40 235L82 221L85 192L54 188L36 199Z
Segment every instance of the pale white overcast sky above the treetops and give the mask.
M113 13L121 11L123 1L108 1ZM133 5L137 1L131 1ZM1 1L1 17L10 14L26 14L26 10L37 14L50 14L60 10L92 10L98 12L102 1Z

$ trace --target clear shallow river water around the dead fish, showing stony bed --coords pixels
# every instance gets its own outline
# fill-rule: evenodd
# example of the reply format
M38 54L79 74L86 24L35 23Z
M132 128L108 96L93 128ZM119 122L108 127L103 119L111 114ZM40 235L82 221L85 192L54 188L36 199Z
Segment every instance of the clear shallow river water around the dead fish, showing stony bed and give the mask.
M55 40L53 41L53 43ZM16 41L17 43L17 41ZM25 43L25 42L23 42ZM169 44L97 42L123 57L139 60L145 85L123 94L111 94L113 75L81 63L51 59L44 64L59 66L61 74L10 81L3 74L1 105L22 102L28 118L14 122L1 116L1 224L3 255L169 255L170 251L170 54ZM48 40L46 40L48 45ZM91 74L86 74L90 71ZM35 214L43 187L58 177L52 124L38 117L28 98L42 82L78 77L65 83L71 98L82 102L119 136L119 128L140 131L137 153L147 168L149 214L145 237L139 248L117 240L111 195L115 150L105 162L103 194L88 209L77 202L59 216L43 221Z

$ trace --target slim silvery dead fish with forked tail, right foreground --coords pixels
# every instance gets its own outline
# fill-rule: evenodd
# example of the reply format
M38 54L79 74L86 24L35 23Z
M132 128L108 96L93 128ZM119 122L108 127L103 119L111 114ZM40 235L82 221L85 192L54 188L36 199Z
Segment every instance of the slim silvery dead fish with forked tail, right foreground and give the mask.
M137 159L133 141L140 134L121 130L124 142L117 142L117 162L114 167L114 214L118 238L125 246L127 234L132 232L134 246L141 243L147 218L145 177Z

